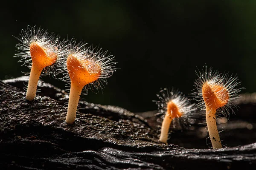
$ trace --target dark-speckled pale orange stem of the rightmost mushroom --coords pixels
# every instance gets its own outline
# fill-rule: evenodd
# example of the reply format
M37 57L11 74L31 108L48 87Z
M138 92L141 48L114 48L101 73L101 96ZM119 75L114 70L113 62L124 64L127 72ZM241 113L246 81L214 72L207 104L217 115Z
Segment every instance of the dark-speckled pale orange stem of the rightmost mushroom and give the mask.
M216 124L216 109L206 107L206 123L209 132L209 137L212 142L212 148L222 148L221 139L218 134L218 128Z

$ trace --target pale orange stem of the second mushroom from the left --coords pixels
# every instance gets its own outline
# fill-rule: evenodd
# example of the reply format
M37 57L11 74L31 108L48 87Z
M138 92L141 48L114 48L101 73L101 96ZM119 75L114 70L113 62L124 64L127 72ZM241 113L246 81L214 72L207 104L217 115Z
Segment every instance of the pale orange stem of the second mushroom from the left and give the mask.
M81 95L81 91L84 86L81 86L77 83L73 83L71 81L70 86L70 96L68 100L68 108L67 108L67 116L66 116L66 123L73 124L76 119L76 109L79 102L79 98Z

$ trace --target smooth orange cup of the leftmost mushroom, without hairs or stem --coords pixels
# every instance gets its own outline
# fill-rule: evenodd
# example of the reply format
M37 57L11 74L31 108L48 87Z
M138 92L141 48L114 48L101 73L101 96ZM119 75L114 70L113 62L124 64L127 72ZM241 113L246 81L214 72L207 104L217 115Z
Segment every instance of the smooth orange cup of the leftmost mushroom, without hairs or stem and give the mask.
M57 54L50 52L48 55L46 50L44 50L38 43L32 42L30 45L30 54L32 58L33 65L36 67L45 68L52 65L57 60Z

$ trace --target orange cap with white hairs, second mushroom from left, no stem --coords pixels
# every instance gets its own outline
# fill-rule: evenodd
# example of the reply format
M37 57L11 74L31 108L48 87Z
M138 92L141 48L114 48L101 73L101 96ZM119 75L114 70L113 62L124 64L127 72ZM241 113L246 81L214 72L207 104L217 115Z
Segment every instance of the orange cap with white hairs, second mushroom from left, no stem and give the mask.
M68 40L67 54L61 59L59 73L64 76L61 80L70 84L76 83L84 89L102 89L107 78L116 71L114 57L108 51L86 47L86 43L76 42L74 38Z

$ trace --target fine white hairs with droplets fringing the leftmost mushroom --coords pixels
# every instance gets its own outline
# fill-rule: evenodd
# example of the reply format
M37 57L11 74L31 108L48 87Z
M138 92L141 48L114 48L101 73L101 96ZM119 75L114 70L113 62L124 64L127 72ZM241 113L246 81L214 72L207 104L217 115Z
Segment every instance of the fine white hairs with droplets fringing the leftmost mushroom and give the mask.
M32 67L32 58L30 54L30 45L32 43L37 43L41 48L44 49L44 52L49 56L52 53L56 54L57 60L45 67L41 73L41 76L52 75L56 78L56 70L60 64L59 61L61 57L66 55L65 46L66 41L60 40L60 36L55 35L53 32L49 32L47 29L43 29L40 26L27 26L26 29L22 29L19 36L15 37L20 41L16 45L17 54L14 57L20 57L21 59L18 62L23 62L22 65L26 65L31 69ZM28 75L29 73L24 73Z

